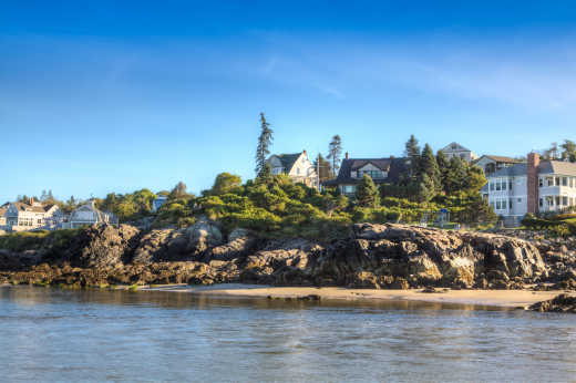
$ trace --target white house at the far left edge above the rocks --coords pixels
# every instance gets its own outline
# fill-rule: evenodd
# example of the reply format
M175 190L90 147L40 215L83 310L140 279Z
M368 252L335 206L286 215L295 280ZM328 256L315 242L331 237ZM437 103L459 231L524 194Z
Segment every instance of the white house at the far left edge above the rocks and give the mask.
M28 204L11 203L6 209L4 216L8 231L54 229L64 217L56 205L43 206L33 198L30 198Z

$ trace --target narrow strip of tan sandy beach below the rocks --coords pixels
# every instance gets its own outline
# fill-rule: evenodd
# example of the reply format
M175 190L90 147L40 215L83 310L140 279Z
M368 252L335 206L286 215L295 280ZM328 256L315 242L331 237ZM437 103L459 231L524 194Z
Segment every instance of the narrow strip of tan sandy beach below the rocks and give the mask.
M243 284L219 284L212 287L162 286L145 290L189 292L218 297L297 299L317 296L329 300L409 300L438 303L456 303L474 306L493 306L503 308L527 308L528 306L552 299L563 290L450 290L438 289L439 292L422 292L422 289L411 290L371 290L346 289L338 287L261 287Z

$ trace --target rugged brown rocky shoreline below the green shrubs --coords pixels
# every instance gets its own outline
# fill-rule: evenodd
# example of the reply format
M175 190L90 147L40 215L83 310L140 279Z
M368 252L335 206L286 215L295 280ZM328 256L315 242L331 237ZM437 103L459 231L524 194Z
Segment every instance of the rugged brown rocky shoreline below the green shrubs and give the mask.
M200 220L186 229L121 225L79 232L62 249L47 241L0 250L0 283L74 287L213 284L368 289L576 289L576 241L520 239L398 224L357 224L330 242L227 238Z

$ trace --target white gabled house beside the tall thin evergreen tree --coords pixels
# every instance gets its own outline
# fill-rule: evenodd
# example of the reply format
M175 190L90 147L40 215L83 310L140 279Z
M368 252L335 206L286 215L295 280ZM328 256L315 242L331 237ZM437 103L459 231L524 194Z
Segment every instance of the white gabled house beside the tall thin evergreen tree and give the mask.
M318 185L318 175L308 159L306 151L295 154L272 154L267 159L267 164L274 175L286 174L292 182L302 183L309 187Z

